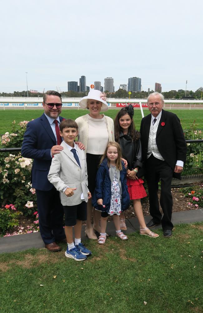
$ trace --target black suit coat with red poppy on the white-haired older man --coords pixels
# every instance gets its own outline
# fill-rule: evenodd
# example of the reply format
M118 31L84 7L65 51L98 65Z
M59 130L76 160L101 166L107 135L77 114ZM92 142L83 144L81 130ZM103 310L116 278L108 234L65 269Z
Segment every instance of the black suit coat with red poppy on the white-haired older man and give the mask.
M150 125L151 113L143 117L140 126L142 158L144 162L147 156ZM161 119L156 132L156 145L161 156L173 170L177 160L186 161L186 140L180 120L176 114L162 110ZM179 179L181 177L180 174L176 173L174 173L173 176Z

